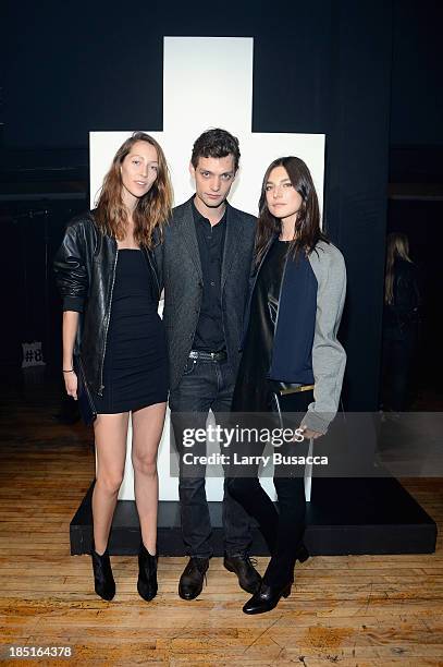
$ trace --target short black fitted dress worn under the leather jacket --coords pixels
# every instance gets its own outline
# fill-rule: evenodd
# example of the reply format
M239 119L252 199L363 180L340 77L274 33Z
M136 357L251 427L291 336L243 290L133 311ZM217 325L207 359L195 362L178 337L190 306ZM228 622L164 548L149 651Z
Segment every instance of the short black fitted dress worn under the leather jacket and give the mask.
M168 353L153 276L139 250L118 251L98 414L128 412L168 400Z

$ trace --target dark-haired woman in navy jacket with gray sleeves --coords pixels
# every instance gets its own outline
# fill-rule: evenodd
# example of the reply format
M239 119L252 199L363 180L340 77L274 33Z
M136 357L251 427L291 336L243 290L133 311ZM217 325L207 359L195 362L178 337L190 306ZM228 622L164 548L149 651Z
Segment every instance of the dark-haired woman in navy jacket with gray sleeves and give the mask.
M279 448L287 461L290 456L306 453L309 439L327 433L337 410L346 363L336 338L346 270L341 252L320 230L317 193L303 160L291 156L269 166L259 209L232 410L304 414L303 442L290 441ZM256 425L260 424L263 421L257 415ZM260 442L249 445L249 451L246 447L237 442L236 453L257 456L263 449ZM245 614L269 611L282 596L287 597L295 561L308 558L303 543L304 480L294 466L276 468L279 512L258 481L258 465L235 470L230 480L231 494L258 521L271 553L261 586L245 604Z

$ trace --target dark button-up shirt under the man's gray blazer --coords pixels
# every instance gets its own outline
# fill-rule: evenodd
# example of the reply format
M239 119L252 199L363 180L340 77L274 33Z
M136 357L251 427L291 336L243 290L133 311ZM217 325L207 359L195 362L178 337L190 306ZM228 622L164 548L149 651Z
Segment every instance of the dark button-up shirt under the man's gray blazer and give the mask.
M220 222L213 227L197 210L194 203L193 213L204 276L201 308L193 350L220 352L225 349L221 307L221 267L226 234L226 210Z

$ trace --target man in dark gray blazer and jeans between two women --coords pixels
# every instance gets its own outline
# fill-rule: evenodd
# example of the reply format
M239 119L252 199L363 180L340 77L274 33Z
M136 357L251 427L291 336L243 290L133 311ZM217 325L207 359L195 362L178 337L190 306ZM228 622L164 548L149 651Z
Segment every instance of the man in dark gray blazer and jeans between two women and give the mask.
M196 192L173 209L163 243L157 248L164 284L169 403L180 454L182 533L189 556L179 584L184 599L201 593L212 546L206 468L187 470L183 454L196 453L196 449L183 446L183 429L205 428L209 410L216 420L218 413L230 411L241 359L256 218L226 201L238 161L238 140L225 130L208 130L197 138L189 165ZM260 575L248 556L249 518L230 496L226 484L223 530L224 567L236 573L242 589L254 593Z

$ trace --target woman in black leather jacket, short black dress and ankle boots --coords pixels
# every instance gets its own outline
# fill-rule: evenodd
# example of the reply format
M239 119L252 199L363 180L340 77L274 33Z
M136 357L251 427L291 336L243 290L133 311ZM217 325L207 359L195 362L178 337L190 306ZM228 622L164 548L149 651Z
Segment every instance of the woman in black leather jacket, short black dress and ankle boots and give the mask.
M159 144L141 132L116 151L97 208L67 226L56 256L63 298L63 375L66 392L94 420L97 453L93 493L95 590L112 599L108 539L123 480L130 412L135 500L141 542L137 589L157 593L157 450L168 399L168 359L157 307L152 255L172 203Z

